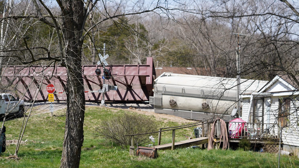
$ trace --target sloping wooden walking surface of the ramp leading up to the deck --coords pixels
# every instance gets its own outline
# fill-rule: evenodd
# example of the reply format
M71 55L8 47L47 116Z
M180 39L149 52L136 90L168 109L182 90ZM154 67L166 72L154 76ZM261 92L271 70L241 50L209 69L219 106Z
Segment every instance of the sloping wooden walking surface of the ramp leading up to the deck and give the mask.
M200 138L194 138L194 139L189 139L185 141L179 141L174 143L174 148L183 148L183 147L191 147L195 145L201 145L201 144L207 144L209 141L208 137L200 137ZM166 150L166 149L171 149L172 144L163 144L163 145L157 145L154 148L157 148L159 150Z

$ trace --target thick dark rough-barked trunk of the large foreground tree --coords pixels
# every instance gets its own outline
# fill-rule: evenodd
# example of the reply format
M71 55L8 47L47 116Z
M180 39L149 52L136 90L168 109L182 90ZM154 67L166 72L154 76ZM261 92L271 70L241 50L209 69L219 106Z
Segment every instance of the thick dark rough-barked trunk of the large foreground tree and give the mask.
M83 144L85 95L81 70L83 1L62 1L65 63L68 72L65 134L60 167L79 167Z

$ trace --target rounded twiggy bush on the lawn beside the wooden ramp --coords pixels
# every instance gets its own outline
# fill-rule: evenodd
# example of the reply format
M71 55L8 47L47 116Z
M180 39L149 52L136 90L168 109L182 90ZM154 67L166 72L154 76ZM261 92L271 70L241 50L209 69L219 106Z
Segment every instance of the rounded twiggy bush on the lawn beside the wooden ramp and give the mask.
M148 116L127 114L117 115L108 121L102 121L96 127L96 137L102 137L107 141L112 141L115 144L125 147L131 145L131 137L125 135L155 132L158 131L158 124L155 120ZM137 135L134 136L134 142L138 145L149 143L149 136L155 134Z

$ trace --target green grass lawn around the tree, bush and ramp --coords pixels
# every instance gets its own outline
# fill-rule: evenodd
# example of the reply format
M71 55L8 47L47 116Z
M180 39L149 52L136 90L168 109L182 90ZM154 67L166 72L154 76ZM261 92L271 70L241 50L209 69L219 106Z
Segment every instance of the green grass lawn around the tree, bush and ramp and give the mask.
M129 149L107 146L104 140L94 138L94 128L102 120L126 112L108 108L87 107L84 119L84 143L81 152L81 167L277 167L276 154L244 152L243 150L176 149L159 151L157 159L130 156ZM62 115L64 112L55 112ZM62 152L65 117L51 117L50 114L35 115L29 119L23 140L28 140L19 149L18 161L6 159L9 152L0 158L0 167L59 167ZM22 119L7 121L7 139L17 139ZM176 122L158 121L159 127L179 125ZM176 132L176 141L185 140L192 128ZM171 142L172 132L162 132L162 143ZM157 137L155 137L157 139ZM7 149L14 153L15 145ZM295 157L282 156L282 167L298 167Z

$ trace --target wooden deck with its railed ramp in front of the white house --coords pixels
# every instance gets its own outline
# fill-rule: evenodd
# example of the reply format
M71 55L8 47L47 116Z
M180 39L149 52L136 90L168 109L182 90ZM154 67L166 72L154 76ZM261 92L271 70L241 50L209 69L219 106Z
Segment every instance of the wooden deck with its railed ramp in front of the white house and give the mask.
M155 132L146 132L146 133L140 133L140 134L132 134L132 135L125 135L125 136L131 136L131 146L129 148L130 155L134 155L134 136L136 135L146 135L146 134L153 134L158 133L158 144L161 144L161 133L166 131L172 131L172 143L169 144L162 144L154 146L156 149L160 150L166 150L171 149L175 150L176 148L184 148L184 147L191 147L196 145L202 145L207 144L209 139L208 137L199 137L195 139L185 140L185 141L179 141L175 142L176 137L176 130L184 129L184 128L190 128L190 127L202 127L202 135L207 136L210 135L212 124L214 121L199 121L192 124L186 124L186 125L180 125L175 127L165 127L160 128L159 131ZM277 142L278 140L278 132L280 132L280 127L277 124L269 124L269 123L244 123L244 122L232 122L232 121L226 121L227 126L230 124L234 124L239 130L227 130L229 133L229 137L238 137L238 138L229 138L229 142L239 142L241 138L248 139L251 143L254 144L265 144L266 148L269 149L277 149ZM241 128L242 127L242 128ZM220 132L220 122L217 120L217 123L215 125L215 130L213 130L214 134L213 138L216 138L219 140L221 132ZM277 153L277 152L276 152Z

